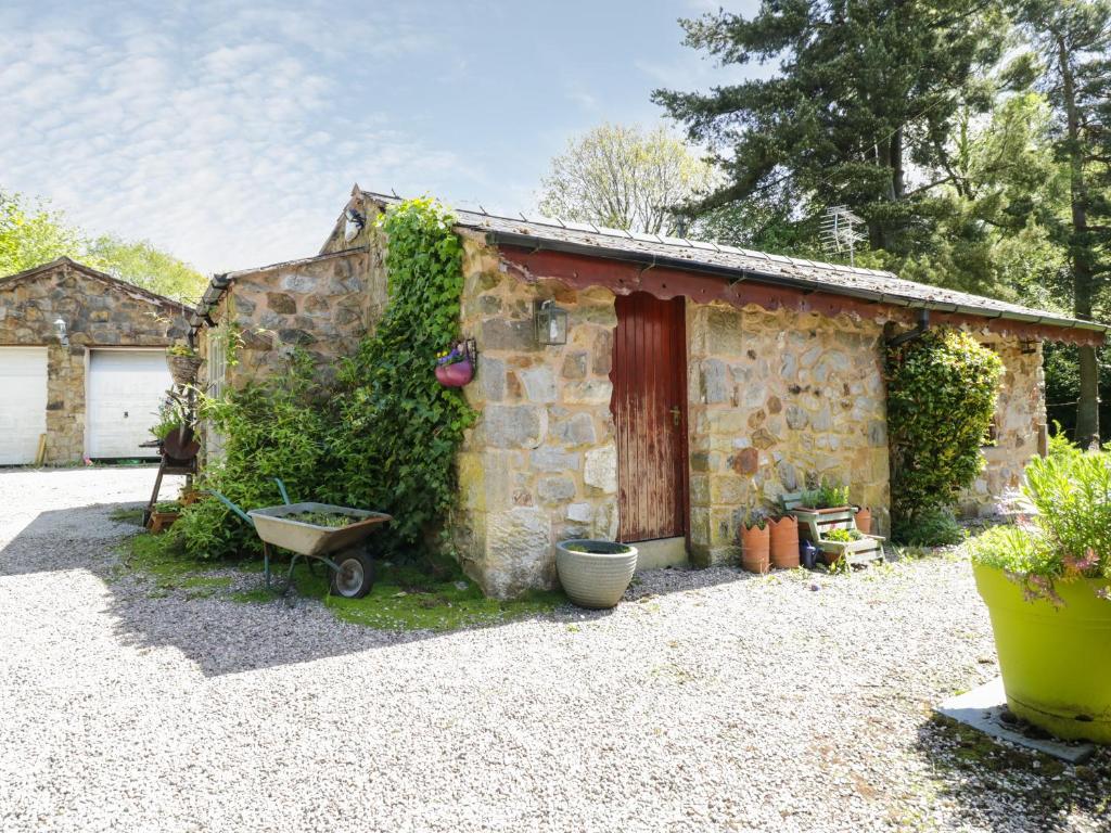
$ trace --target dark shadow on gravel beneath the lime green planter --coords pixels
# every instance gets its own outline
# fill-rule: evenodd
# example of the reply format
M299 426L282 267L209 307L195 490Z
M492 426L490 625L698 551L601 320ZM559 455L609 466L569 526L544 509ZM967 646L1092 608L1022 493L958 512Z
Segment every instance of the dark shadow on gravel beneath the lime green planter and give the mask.
M930 761L939 793L970 826L1111 829L1111 749L1073 766L937 714L919 727L915 749Z

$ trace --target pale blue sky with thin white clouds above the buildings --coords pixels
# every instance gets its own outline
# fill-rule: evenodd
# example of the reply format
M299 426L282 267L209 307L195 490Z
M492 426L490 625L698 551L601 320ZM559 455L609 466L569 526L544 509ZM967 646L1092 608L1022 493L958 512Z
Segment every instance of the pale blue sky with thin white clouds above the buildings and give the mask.
M209 272L316 253L356 181L528 210L569 137L738 78L681 46L718 6L6 0L0 189Z

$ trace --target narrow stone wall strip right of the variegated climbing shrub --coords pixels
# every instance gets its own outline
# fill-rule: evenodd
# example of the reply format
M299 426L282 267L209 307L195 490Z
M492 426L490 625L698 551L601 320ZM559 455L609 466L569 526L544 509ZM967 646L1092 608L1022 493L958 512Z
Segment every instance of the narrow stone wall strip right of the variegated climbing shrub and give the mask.
M983 449L987 466L960 500L967 515L994 513L999 499L1022 484L1022 470L1044 453L1045 381L1041 343L981 334L981 342L1003 361L995 409L995 442Z

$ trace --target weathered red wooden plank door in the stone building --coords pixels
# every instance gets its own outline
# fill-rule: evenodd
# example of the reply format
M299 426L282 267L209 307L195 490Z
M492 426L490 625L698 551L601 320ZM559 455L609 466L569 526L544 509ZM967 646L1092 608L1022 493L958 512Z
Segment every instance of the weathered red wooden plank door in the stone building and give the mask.
M620 541L687 534L687 327L683 299L617 298L613 421Z

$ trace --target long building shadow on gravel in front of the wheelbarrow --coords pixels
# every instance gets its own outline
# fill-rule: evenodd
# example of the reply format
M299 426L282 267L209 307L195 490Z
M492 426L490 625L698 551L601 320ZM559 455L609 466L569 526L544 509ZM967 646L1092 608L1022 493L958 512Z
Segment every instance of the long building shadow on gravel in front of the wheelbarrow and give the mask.
M451 632L382 631L338 620L314 600L274 600L240 603L203 592L151 592L152 586L128 578L119 569L119 542L134 531L113 522L116 510L136 503L111 503L41 512L7 546L0 549L0 576L68 570L87 570L104 582L110 594L108 612L127 645L173 648L192 660L208 676L311 662L440 636ZM261 573L257 578L262 586ZM671 592L691 591L753 579L735 569L653 571L639 578L627 595L643 601ZM101 600L90 600L101 604ZM514 619L583 623L612 615L571 605ZM492 622L486 628L500 626Z

